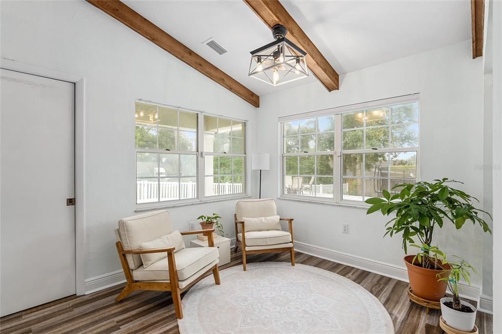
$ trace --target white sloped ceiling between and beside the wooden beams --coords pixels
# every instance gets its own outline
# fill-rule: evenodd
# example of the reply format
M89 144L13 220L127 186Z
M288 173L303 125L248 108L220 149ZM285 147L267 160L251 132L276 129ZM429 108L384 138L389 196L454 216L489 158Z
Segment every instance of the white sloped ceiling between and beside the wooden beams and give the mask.
M247 76L249 51L273 37L241 0L123 2L258 95L317 81L310 76L273 87ZM281 3L338 74L471 37L468 0ZM211 38L227 52L203 44Z

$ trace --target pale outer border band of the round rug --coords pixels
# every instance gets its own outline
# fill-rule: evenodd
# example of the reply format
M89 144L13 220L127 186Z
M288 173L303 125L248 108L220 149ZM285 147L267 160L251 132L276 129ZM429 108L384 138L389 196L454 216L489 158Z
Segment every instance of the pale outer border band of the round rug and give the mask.
M289 262L259 262L259 263L248 263L247 264L247 271L246 272L249 272L250 270L253 270L253 269L256 269L256 268L263 268L263 267L266 267L266 268L277 268L277 267L282 267L282 268L291 268L291 269L295 269L295 268L301 268L301 270L305 270L305 271L308 271L310 273L315 273L315 274L319 274L321 276L324 276L324 277L337 277L337 279L343 281L344 284L346 285L351 285L353 288L355 288L354 291L358 291L360 292L362 295L364 295L364 297L366 298L369 298L371 299L376 305L378 305L380 308L381 308L381 311L382 313L386 314L387 315L387 318L386 318L386 325L389 326L389 328L391 329L391 332L395 332L394 330L394 324L393 324L393 321L392 321L392 318L391 316L389 315L389 312L387 311L387 309L385 308L385 306L382 304L382 302L376 298L373 294L371 294L371 292L369 292L368 290L366 290L365 288L363 288L361 285L353 282L352 280L344 277L344 276L341 276L337 273L334 273L334 272L331 272L329 270L325 270L325 269L322 269L322 268L317 268L317 267L313 267L313 266L310 266L310 265L305 265L305 264L300 264L300 263L297 263L295 264L295 266L292 266L291 263ZM233 266L233 267L229 267L229 268L226 268L226 269L223 269L223 270L220 270L220 278L221 278L221 284L224 284L224 278L228 275L231 275L235 272L243 272L242 270L242 266ZM195 284L193 287L190 288L190 290L185 294L185 296L183 297L182 299L182 306L183 306L183 313L185 315L188 315L185 310L190 307L189 305L187 305L192 298L196 298L198 294L201 294L205 291L206 288L211 288L211 286L217 288L218 286L214 284L214 279L213 279L213 276L212 275L209 275L205 278L203 278L200 282L198 282L197 284ZM189 311L187 309L187 311ZM178 326L179 326L179 330L180 330L180 333L181 334L194 334L194 333L202 333L204 331L202 330L199 330L199 331L193 331L193 322L192 321L197 321L198 319L195 319L194 317L192 316L184 316L183 319L181 320L178 320ZM190 324L190 325L188 325ZM230 325L230 324L229 324ZM192 327L192 328L190 328ZM230 327L231 328L231 327ZM230 332L232 332L230 330ZM371 331L372 332L372 331Z

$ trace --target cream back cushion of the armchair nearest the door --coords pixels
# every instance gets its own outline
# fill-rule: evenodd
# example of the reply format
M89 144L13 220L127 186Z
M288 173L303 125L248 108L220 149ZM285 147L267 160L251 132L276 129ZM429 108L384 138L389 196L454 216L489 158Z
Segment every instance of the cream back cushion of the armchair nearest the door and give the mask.
M173 232L171 217L164 210L123 218L118 222L118 233L124 250L139 249L140 243L171 232ZM126 258L129 268L133 270L143 265L138 254L127 254Z

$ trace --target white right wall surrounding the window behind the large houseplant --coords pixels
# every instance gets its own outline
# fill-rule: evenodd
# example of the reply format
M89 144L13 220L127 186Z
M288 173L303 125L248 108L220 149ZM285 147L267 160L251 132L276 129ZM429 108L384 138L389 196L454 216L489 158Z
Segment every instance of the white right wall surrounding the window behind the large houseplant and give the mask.
M278 117L416 92L421 98L422 180L463 181L459 188L482 201L483 170L476 165L483 164L483 69L481 59L472 60L470 41L342 75L339 91L328 93L316 82L263 96L258 147L268 147L272 155L262 194L278 195ZM382 238L387 220L381 215L366 216L363 208L339 205L291 200L278 204L281 214L295 218L295 239L300 242L404 266L401 237ZM342 224L349 224L349 234L342 234ZM434 243L481 271L482 234L472 224L460 231L445 224L435 231ZM472 281L481 284L480 277Z

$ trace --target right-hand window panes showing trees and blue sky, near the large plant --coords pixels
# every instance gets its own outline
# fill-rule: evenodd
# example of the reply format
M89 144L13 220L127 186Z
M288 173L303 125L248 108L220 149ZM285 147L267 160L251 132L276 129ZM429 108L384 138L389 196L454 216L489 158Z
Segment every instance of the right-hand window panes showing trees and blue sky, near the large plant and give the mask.
M283 121L282 196L362 202L417 182L419 102L386 102Z

